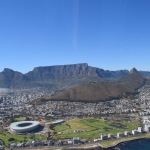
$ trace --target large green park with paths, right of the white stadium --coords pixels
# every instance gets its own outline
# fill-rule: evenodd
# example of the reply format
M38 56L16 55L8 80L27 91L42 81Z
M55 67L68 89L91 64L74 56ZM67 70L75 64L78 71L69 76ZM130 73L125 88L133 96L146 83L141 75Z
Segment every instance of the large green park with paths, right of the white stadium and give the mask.
M55 135L56 139L80 137L91 140L100 137L102 134L111 133L116 135L118 132L131 132L131 130L137 129L139 126L141 126L140 121L135 120L104 120L88 117L82 119L75 118L64 124L57 125L54 129L56 132L62 132L60 135ZM83 130L83 132L74 133L75 130Z

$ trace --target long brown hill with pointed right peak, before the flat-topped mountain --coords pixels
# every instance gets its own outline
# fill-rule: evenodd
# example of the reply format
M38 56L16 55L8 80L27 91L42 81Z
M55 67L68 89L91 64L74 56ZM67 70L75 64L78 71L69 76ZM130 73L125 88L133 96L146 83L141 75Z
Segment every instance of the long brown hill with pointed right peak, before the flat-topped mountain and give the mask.
M144 85L146 79L134 68L117 82L89 83L66 90L60 94L44 98L58 101L105 101L135 94Z

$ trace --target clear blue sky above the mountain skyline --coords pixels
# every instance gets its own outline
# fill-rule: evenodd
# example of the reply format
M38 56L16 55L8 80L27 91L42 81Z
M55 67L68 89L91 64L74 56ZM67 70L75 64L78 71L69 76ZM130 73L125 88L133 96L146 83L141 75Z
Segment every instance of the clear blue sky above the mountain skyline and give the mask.
M0 71L88 63L150 71L149 0L0 0Z

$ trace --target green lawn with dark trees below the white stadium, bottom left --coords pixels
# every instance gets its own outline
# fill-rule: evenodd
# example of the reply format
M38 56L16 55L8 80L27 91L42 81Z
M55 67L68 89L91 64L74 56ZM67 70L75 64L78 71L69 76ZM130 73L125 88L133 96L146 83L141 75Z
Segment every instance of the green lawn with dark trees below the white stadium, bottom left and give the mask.
M31 139L31 135L15 135L10 134L7 131L3 131L0 134L0 139L3 140L5 146L9 146L11 143L20 143L20 142L27 142ZM10 141L10 139L12 139ZM35 139L46 139L44 135L35 134Z

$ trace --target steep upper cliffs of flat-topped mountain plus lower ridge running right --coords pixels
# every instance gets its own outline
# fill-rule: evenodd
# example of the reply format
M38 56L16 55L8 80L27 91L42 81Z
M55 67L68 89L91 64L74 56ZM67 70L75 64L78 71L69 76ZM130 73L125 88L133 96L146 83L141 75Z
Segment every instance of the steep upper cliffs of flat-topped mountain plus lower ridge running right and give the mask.
M88 66L88 64L60 65L49 67L37 67L26 74L32 80L64 79L77 77L100 77L100 78L121 78L128 73L127 70L108 71Z

